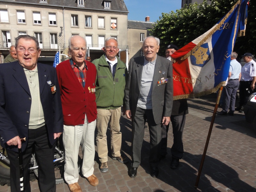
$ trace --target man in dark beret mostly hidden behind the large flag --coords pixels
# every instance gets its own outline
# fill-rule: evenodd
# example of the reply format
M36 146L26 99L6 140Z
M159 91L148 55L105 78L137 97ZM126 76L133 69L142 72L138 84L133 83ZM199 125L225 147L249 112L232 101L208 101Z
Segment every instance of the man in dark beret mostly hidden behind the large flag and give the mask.
M169 44L165 50L165 57L171 60L171 55L176 52L179 48L174 44ZM172 133L173 133L173 145L171 148L172 161L171 168L176 169L179 166L179 161L184 154L182 134L186 120L186 114L188 114L188 102L187 99L174 100L172 105ZM162 125L162 140L160 159L165 158L167 154L167 133L169 125Z

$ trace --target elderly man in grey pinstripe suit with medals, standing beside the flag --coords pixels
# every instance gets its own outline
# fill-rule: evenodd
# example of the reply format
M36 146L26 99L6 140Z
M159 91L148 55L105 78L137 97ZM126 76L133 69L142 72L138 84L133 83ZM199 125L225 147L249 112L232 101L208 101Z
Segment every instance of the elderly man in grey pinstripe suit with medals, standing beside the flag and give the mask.
M144 56L130 60L125 86L126 116L132 119L132 166L130 177L137 175L144 127L148 120L150 134L150 175L157 177L161 124L168 125L172 111L172 63L157 55L160 40L153 36L144 39Z

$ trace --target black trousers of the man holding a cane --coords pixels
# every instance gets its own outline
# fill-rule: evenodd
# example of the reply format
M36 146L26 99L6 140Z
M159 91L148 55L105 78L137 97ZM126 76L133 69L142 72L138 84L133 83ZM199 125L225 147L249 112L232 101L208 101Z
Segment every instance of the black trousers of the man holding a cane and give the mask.
M55 145L51 146L48 142L46 126L28 130L28 145L22 152L23 155L23 178L24 191L30 192L29 183L29 162L31 154L35 151L38 168L38 185L41 192L56 191L55 173L53 168L53 154ZM19 154L6 150L10 159L11 191L20 191L20 170Z

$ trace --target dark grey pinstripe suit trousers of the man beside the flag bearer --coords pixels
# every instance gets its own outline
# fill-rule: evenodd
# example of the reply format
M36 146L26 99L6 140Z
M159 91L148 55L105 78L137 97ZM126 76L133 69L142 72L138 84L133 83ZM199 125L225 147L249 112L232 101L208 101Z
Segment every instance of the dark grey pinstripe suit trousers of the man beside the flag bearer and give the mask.
M139 167L141 148L144 138L145 123L148 121L150 135L149 165L157 167L160 141L162 138L161 124L156 124L152 109L136 108L135 116L132 118L132 167Z

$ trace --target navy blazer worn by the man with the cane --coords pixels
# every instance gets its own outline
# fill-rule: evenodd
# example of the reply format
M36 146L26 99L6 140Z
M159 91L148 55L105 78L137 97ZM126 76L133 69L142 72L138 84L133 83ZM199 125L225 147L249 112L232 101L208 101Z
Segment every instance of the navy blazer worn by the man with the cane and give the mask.
M60 88L54 67L37 63L40 99L44 111L44 120L48 129L50 144L55 140L53 133L63 132L63 115L60 100ZM56 86L52 94L50 85ZM23 67L18 61L0 64L0 135L1 145L13 151L18 146L8 146L7 141L15 136L28 139L28 124L31 108L31 95ZM22 143L22 151L27 140Z

